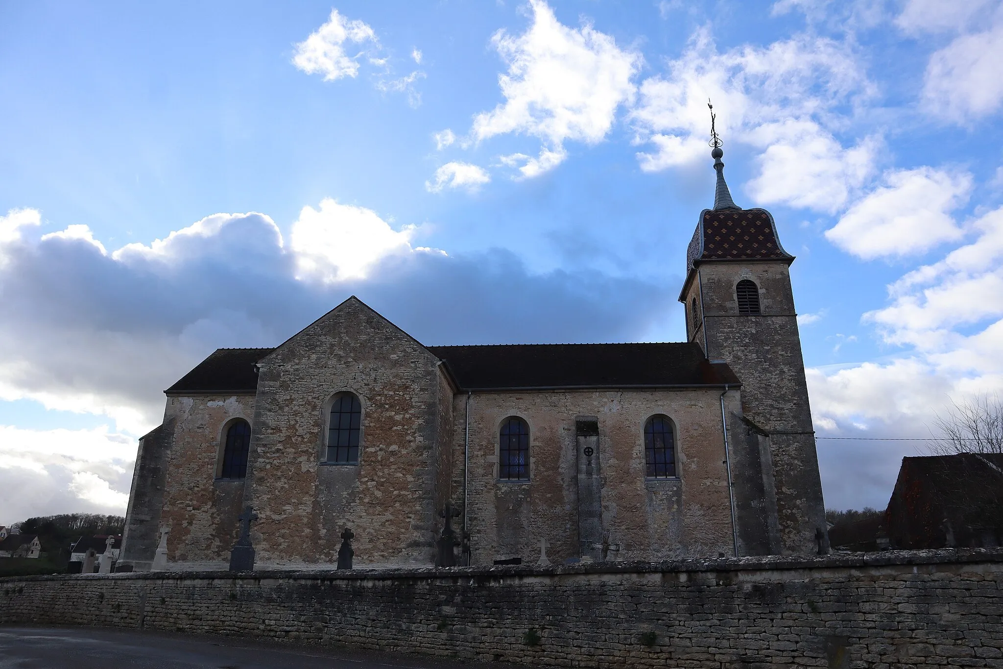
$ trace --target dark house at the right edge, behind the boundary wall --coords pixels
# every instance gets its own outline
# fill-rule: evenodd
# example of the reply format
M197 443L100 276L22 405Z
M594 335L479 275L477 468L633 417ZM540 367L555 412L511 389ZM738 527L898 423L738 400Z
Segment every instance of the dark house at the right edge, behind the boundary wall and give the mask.
M897 549L1000 546L1003 454L902 458L886 518Z

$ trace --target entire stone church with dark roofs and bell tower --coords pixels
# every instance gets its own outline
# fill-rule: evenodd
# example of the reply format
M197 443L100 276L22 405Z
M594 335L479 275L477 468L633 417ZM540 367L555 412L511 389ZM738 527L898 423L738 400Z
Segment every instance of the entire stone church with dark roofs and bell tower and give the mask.
M226 569L657 561L827 551L800 339L773 217L720 148L679 301L687 341L425 346L351 297L276 348L219 349L139 440L121 563Z

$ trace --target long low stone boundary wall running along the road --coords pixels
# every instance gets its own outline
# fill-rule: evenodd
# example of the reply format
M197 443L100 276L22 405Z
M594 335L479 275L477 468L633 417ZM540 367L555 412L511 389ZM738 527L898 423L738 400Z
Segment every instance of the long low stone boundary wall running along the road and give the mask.
M23 577L0 579L0 623L85 620L578 667L1003 667L1001 583L998 549Z

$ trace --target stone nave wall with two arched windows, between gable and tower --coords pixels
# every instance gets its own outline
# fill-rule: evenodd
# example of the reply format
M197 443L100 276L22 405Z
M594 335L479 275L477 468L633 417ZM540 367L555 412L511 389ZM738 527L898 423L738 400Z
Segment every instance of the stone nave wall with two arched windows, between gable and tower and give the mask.
M611 559L667 560L732 555L720 391L568 390L479 392L470 400L469 509L473 565L522 558L535 563L541 540L548 557L579 557L575 420L599 423L597 476L602 529L619 547ZM738 393L727 410L740 411ZM457 396L456 453L462 475L465 396ZM653 414L675 426L679 477L647 479L644 425ZM530 479L498 479L498 428L517 415L530 427ZM729 420L731 440L744 430ZM748 472L733 469L736 477ZM462 481L453 488L462 495ZM461 499L460 499L461 501ZM740 554L747 555L745 546Z

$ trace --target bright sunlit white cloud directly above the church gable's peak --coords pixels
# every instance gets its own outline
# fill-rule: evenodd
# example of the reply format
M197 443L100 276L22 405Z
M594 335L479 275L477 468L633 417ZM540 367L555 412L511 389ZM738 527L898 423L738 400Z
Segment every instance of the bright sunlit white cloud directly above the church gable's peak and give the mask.
M386 256L413 251L414 232L414 227L395 231L370 209L325 198L319 210L304 207L300 211L290 234L290 249L297 255L301 278L364 279Z

